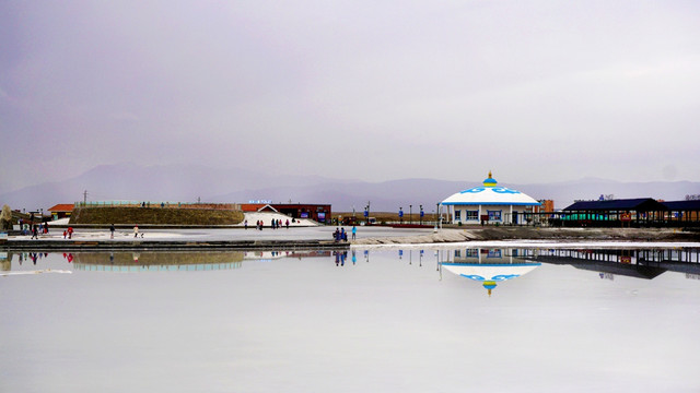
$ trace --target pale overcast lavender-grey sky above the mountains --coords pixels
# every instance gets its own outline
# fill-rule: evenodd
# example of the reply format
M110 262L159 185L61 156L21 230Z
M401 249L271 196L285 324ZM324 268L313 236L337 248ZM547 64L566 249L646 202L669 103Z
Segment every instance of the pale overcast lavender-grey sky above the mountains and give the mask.
M101 164L700 180L698 1L0 1L0 190Z

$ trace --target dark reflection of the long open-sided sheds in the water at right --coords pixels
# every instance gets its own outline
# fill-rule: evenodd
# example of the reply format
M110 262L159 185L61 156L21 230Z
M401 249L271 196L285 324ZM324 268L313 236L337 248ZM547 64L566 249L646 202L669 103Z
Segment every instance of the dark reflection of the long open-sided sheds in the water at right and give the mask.
M604 273L602 277L612 274L652 279L666 271L700 274L699 249L556 249L541 251L535 260Z

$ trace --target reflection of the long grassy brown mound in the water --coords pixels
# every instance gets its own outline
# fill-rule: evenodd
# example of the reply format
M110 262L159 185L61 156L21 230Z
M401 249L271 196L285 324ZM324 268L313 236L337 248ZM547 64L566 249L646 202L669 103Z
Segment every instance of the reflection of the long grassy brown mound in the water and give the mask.
M91 272L195 272L241 267L243 252L77 252L75 270Z

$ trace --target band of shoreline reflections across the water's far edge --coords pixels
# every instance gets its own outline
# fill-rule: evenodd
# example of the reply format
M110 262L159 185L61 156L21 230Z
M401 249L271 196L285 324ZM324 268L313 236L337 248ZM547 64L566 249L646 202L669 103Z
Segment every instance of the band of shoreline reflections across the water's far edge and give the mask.
M541 264L571 265L596 272L603 279L625 276L653 279L665 272L700 279L700 249L542 249L542 248L450 248L270 250L270 251L147 251L147 252L66 252L63 262L78 271L151 272L213 271L242 266L244 261L272 262L282 259L319 259L336 266L355 266L358 260L370 263L371 253L381 260L395 259L408 265L423 265L427 252L434 254L435 270L476 281L489 295L500 283L522 277ZM0 271L37 269L49 260L46 252L0 252ZM44 263L43 263L44 260ZM430 258L433 261L433 258ZM13 267L14 266L14 267ZM46 267L46 266L45 266ZM56 267L56 266L48 266ZM63 266L65 267L65 266Z

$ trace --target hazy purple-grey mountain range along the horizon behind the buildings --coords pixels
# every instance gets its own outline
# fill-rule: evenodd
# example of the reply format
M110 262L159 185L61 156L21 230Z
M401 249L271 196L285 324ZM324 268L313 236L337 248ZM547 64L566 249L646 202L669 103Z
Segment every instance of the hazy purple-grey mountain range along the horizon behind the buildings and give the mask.
M427 213L455 192L479 186L481 180L448 181L400 179L383 182L330 179L318 176L270 176L243 169L219 169L192 165L141 167L132 164L102 165L63 181L44 182L0 194L0 204L12 209L38 210L57 203L88 201L172 201L330 203L335 212L371 211L413 213L422 204ZM574 200L594 200L600 194L615 198L681 200L700 193L697 181L620 182L606 179L516 184L500 182L563 209Z

